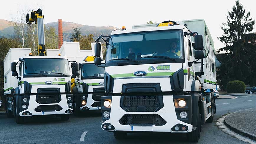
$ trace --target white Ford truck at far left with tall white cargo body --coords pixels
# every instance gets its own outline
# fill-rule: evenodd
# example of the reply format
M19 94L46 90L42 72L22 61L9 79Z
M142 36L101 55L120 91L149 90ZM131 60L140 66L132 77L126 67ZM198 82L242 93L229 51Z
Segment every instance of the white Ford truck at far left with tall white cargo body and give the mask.
M34 115L73 113L70 62L62 56L32 56L30 48L10 48L4 59L4 96L8 117L16 123ZM74 75L78 64L72 63Z

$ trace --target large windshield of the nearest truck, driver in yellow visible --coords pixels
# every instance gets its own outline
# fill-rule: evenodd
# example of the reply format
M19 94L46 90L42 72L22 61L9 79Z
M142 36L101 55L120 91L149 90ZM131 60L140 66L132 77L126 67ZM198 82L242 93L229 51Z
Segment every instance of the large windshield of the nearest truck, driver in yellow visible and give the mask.
M113 47L112 47L113 46ZM183 35L180 30L136 32L112 35L106 54L106 63L167 63L184 61Z

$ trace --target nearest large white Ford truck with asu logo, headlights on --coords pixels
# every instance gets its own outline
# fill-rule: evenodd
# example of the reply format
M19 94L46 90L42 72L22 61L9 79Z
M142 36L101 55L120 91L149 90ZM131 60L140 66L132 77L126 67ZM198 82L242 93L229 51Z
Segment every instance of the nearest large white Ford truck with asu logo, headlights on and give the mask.
M116 139L154 131L187 133L197 142L201 125L213 121L206 90L216 87L214 44L203 19L184 22L122 27L96 39L107 41L101 128ZM99 44L95 56L101 64Z

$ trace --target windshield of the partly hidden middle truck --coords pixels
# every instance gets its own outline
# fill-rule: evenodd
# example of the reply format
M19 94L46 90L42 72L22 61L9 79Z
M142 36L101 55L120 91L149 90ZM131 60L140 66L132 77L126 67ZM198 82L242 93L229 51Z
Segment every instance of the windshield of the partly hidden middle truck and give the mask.
M104 79L104 68L98 67L94 63L82 65L82 79Z

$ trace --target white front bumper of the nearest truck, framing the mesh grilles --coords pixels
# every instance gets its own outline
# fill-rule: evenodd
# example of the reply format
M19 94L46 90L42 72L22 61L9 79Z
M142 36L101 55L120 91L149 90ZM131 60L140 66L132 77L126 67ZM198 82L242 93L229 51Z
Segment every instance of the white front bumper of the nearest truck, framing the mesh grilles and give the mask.
M154 132L172 132L172 133L187 133L191 132L193 126L191 124L185 123L178 120L176 115L176 110L174 106L173 96L163 96L163 107L155 112L127 112L120 107L121 96L112 96L111 109L109 119L105 120L101 128L104 125L111 125L112 130L103 129L106 131L154 131ZM105 109L102 110L104 112ZM163 118L166 123L160 126L156 125L122 125L119 120L123 118L124 115L159 115ZM104 119L104 118L103 118ZM173 127L175 125L184 125L187 127L186 131L174 131Z

